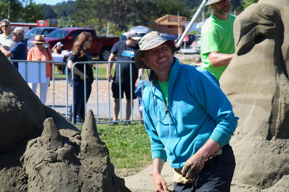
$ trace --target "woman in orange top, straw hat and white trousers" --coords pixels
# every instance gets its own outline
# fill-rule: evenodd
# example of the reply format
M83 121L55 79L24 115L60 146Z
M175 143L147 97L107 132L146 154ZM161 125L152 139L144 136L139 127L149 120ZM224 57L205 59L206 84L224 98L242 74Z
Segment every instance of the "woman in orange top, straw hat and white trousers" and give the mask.
M35 36L35 47L29 50L27 54L28 61L53 61L51 50L48 47L43 46L44 41L43 35L36 35ZM52 80L53 75L53 64L52 63L45 63L46 69L46 82L40 83L40 100L43 104L46 102L46 95L49 86L49 82ZM36 94L38 83L28 83L32 91Z

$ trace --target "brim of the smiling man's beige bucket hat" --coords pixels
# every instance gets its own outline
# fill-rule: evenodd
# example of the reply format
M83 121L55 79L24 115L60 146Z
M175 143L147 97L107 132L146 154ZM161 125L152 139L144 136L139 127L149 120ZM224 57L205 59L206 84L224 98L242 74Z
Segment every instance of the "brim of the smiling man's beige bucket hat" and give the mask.
M165 41L159 41L155 44L152 44L151 46L148 46L145 50L141 50L141 49L138 49L137 52L135 53L135 66L138 68L138 69L150 69L150 67L146 66L144 64L144 62L141 61L141 58L143 57L144 55L144 51L147 51L147 50L150 50L150 49L154 49L155 47L163 44L163 43L167 43L169 44L170 48L172 49L172 53L175 53L177 51L179 51L181 49L181 47L179 45L175 45L175 42L172 40L172 39L167 39Z

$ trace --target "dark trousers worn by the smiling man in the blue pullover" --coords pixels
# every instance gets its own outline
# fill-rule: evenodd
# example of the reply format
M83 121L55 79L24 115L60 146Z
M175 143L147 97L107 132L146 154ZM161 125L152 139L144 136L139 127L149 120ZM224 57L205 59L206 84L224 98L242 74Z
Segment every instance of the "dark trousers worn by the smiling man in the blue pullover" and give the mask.
M174 184L175 192L229 192L235 170L235 156L230 145L222 148L222 155L206 161L200 175L191 184Z

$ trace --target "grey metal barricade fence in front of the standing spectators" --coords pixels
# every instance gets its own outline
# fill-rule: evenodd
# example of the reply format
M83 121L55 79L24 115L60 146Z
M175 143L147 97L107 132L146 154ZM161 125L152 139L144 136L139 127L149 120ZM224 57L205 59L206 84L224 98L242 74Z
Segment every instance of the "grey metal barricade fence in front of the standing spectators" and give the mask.
M52 106L51 106L51 108L53 109L53 110L55 110L55 104L54 104L54 101L55 101L55 78L54 78L54 76L55 76L55 71L54 71L54 66L55 66L55 64L62 64L63 66L65 66L65 80L66 80L66 102L65 102L65 114L63 114L63 115L65 115L65 117L66 118L69 118L69 114L68 114L68 112L69 112L69 110L68 110L68 95L69 95L69 93L68 93L68 84L69 84L69 78L68 78L68 68L67 68L67 63L66 62L64 62L64 61L28 61L28 60L10 60L11 62L19 62L19 63L25 63L25 65L26 65L26 69L27 69L27 64L28 63L30 63L30 62L32 62L32 63L39 63L39 65L41 64L41 63L53 63L53 77L52 77L52 86L53 86L53 93L52 93L52 95L53 95L53 98L52 98ZM131 120L123 120L122 119L122 104L121 104L121 102L120 102L120 113L119 113L119 116L120 116L120 120L118 120L118 121L111 121L111 111L110 111L110 79L107 79L107 89L108 89L108 119L107 120L103 120L102 119L102 121L100 121L100 118L99 118L99 103L98 103L98 64L107 64L107 67L108 67L108 65L109 65L109 63L107 62L107 61L85 61L85 62L75 62L74 64L73 64L73 66L72 66L72 73L74 73L74 67L75 67L75 65L76 64L83 64L84 65L84 76L86 76L86 69L85 69L85 67L86 67L86 64L95 64L96 65L96 67L95 67L95 76L96 76L96 78L94 79L95 81L96 81L96 118L95 118L95 120L96 120L96 124L100 124L100 123L110 123L110 122L130 122L130 121L141 121L141 120L143 120L142 118L140 118L140 119L135 119L134 118L134 116L133 116L133 100L131 99ZM116 61L113 61L113 63L116 63ZM128 61L117 61L117 63L128 63ZM130 71L129 71L129 73L130 74L132 74L132 64L135 64L135 62L134 61L130 61L129 62L130 63ZM120 66L119 66L120 67ZM39 70L40 70L40 67L39 67ZM39 71L39 74L40 74L40 71ZM26 70L26 74L25 74L25 76L27 77L27 70ZM119 70L119 76L120 76L120 78L121 78L121 73L120 73L120 70ZM23 79L27 79L27 78L23 78ZM143 76L141 76L141 80L143 79ZM26 81L27 82L27 81ZM134 85L135 84L135 82L132 82L132 76L130 75L130 85L132 86L132 85ZM71 92L71 96L72 96L72 103L71 103L71 105L72 105L72 110L71 110L71 115L72 115L72 122L74 122L74 115L73 115L73 111L74 111L74 103L73 103L73 101L74 101L74 76L72 76L72 78L71 78L71 86L72 86L72 92ZM119 90L121 90L121 84L119 84ZM121 92L121 91L120 91ZM134 93L132 92L132 89L131 89L131 91L130 91L130 96L131 96L131 98L133 98L132 97L132 95L133 95ZM84 95L85 95L85 101L86 101L86 79L84 80ZM121 94L120 94L120 101L121 101ZM138 106L137 106L138 107ZM85 117L86 117L86 113L87 113L87 103L85 102ZM94 112L94 114L95 114L95 112ZM79 122L79 123L75 123L75 125L83 125L83 122Z

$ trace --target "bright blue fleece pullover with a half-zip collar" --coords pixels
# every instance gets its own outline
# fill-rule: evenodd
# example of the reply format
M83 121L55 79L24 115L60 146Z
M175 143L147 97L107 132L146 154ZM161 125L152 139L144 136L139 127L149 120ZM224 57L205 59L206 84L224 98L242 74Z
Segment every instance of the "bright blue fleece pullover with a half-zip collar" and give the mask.
M175 58L167 107L158 83L152 83L145 84L143 113L153 159L167 159L171 167L179 169L209 138L221 148L229 144L239 118L209 71L180 64Z

